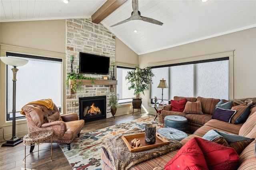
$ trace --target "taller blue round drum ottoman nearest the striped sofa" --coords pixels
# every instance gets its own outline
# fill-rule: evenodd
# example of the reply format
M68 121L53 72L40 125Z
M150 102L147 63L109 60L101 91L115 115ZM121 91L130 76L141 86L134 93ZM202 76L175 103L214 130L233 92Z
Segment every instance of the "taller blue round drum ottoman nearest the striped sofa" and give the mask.
M164 127L172 127L181 131L187 130L188 119L183 116L170 115L164 117Z

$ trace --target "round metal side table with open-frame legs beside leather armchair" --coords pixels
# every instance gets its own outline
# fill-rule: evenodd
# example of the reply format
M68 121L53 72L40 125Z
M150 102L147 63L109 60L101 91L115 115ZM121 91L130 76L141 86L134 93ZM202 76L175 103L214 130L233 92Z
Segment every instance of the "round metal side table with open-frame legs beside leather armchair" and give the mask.
M24 170L26 170L26 164L36 164L36 163L44 162L48 158L51 158L51 161L52 161L52 136L53 136L53 131L37 131L23 137L23 145L25 145L25 158L23 159L23 163L25 164ZM38 162L26 163L26 157L34 153L34 152L31 152L30 154L26 155L26 146L31 146L31 145L34 146L37 144L38 150L35 152L38 152L38 157L39 157L39 151L41 151L39 150L39 144L46 143L48 141L51 141L51 149L42 149L42 150L50 150L51 155L45 158L44 160L40 160Z

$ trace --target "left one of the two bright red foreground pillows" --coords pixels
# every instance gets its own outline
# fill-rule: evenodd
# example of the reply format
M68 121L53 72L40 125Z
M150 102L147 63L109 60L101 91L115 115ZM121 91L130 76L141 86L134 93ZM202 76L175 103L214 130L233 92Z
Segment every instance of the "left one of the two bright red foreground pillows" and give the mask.
M165 170L208 170L204 154L192 138L164 166Z

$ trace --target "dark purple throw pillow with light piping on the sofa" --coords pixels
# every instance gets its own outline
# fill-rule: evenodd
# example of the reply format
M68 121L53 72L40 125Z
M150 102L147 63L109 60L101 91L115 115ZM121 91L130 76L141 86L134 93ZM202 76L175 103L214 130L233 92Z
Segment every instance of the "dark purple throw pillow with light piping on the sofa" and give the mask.
M230 123L232 116L236 113L236 110L229 109L220 109L216 108L214 114L212 115L212 119L218 119L220 121L225 121Z

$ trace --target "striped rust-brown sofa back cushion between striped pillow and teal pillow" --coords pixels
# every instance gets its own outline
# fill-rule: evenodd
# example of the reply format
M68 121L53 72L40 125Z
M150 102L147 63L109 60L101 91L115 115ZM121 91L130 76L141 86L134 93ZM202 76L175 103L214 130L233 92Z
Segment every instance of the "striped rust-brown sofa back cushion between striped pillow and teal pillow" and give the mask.
M202 102L203 113L213 115L215 106L216 106L216 104L218 104L218 102L220 102L220 99L202 98L199 96L196 101Z

